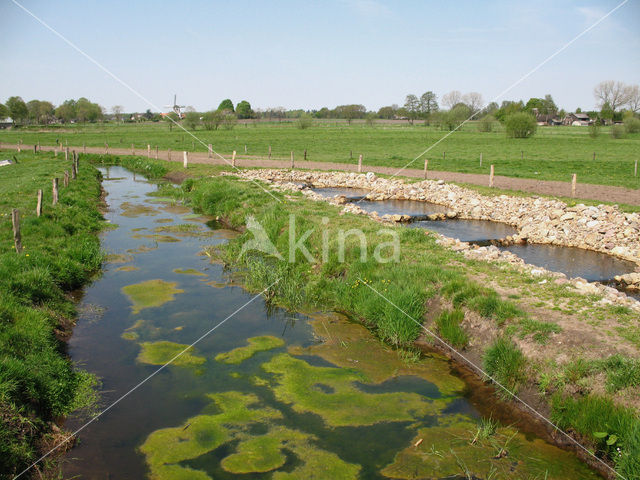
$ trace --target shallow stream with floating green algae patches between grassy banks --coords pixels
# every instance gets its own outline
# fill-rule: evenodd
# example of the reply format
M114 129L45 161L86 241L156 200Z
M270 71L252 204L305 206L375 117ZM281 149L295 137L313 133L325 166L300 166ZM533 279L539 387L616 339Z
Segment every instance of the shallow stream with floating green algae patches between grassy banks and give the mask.
M109 262L69 353L100 377L99 410L139 386L80 432L65 478L600 478L481 416L491 407L445 358L407 362L342 316L268 306L204 253L234 232L123 168L102 172Z

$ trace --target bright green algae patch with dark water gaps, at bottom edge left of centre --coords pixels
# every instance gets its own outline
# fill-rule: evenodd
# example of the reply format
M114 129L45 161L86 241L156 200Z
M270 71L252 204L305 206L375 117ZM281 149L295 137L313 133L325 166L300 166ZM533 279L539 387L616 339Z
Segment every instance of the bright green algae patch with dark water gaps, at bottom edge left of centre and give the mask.
M230 473L277 470L285 464L285 452L289 452L298 459L296 467L291 472L274 472L273 479L358 478L360 466L318 448L313 435L274 424L282 419L282 413L260 407L255 395L225 392L209 398L220 413L198 415L180 427L160 429L147 437L140 451L146 456L152 479L211 479L206 472L190 467L188 461L231 442L237 442L235 452L221 462ZM252 436L254 425L263 425L266 433Z

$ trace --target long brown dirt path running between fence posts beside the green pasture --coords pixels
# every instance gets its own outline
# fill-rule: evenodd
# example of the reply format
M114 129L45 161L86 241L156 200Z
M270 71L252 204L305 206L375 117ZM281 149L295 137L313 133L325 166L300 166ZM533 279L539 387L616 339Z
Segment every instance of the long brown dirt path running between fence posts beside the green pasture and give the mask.
M7 148L17 148L17 145L7 145ZM33 150L33 145L22 145L23 150ZM75 148L78 151L82 150L82 147L69 147ZM53 151L54 147L42 146L43 151ZM86 147L87 153L105 153L103 147ZM131 149L128 148L110 148L109 153L114 155L131 155ZM146 150L136 150L135 154L145 155ZM226 158L226 161L219 156L213 155L213 158L205 152L189 152L189 162L192 163L205 163L213 165L230 164L231 159ZM155 158L155 150L151 151L151 158ZM160 150L158 152L158 158L162 160L168 159L168 152L166 150ZM172 152L171 160L176 162L182 162L182 152ZM251 157L251 156L238 156L236 159L236 166L238 167L263 167L263 168L290 168L291 161L284 159L267 159L264 157ZM303 169L315 169L315 170L343 170L347 172L356 172L358 166L355 164L347 163L331 163L331 162L305 162L296 161L295 166ZM423 170L415 168L406 168L398 171L395 167L379 167L379 166L363 166L364 172L374 172L386 175L397 174L400 177L412 177L422 178ZM475 173L456 173L456 172L441 172L441 171L429 171L428 178L432 180L444 180L445 182L459 182L469 183L473 185L488 186L488 175L479 175ZM507 190L520 190L531 194L551 195L557 197L570 197L571 196L571 184L569 182L556 182L549 180L533 180L527 178L513 178L503 177L496 175L494 177L494 186L498 189ZM640 206L640 189L632 190L623 187L613 187L608 185L593 185L590 183L578 183L576 187L576 197L606 201L615 203L626 203L629 205Z

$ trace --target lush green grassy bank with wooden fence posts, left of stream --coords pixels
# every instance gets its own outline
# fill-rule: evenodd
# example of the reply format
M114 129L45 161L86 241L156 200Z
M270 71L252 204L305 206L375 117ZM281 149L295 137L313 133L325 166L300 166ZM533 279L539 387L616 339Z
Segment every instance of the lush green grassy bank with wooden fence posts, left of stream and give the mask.
M14 156L4 153L0 158ZM18 164L0 167L1 478L12 478L56 444L62 437L56 419L95 400L95 378L74 368L63 339L75 316L69 293L102 262L99 172L81 162L77 180L65 188L62 178L71 162L52 154L15 157ZM60 178L56 206L53 177ZM35 214L38 189L44 192L41 217ZM13 208L21 215L20 254L13 244ZM48 462L31 472L33 478L35 470L55 475Z

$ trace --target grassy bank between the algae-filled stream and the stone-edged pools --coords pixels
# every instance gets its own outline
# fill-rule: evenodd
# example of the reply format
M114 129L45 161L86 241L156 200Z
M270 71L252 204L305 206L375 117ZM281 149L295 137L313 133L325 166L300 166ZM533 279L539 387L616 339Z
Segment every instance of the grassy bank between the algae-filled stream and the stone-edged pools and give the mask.
M380 224L340 214L334 206L308 201L300 194L276 193L281 202L275 202L255 184L229 177L188 179L180 188L166 187L160 194L184 200L196 211L220 216L233 227L245 227L247 216L253 215L281 259L255 250L242 251L243 244L254 239L250 231L222 250L209 252L238 267L250 289L267 289L267 298L293 310L345 311L405 358L415 357L414 342L423 334L423 323L458 348L468 345L467 355L481 361L487 373L509 389L529 394L533 390L534 403L543 410L546 405L563 428L579 432L583 441L598 455L607 456L626 478L640 478L635 460L640 458L636 439L640 377L624 374L625 366L638 361L620 357L621 363L616 364L615 349L609 349L595 352L606 362L593 362L581 357L587 353L581 353L580 348L566 349L558 340L564 340L562 317L574 315L637 328L628 309L598 305L596 298L547 284L551 282L539 284L539 278L466 260L417 229L391 227L400 241L398 262L379 263L375 249L389 241L380 232ZM312 230L304 242L311 259L300 250L290 251L291 214L295 215L296 240ZM361 231L362 237L353 234L341 240L338 232L352 229ZM364 250L362 239L367 244ZM341 242L344 258L340 257ZM328 252L324 257L323 251ZM361 257L363 251L366 258ZM390 254L388 249L379 253L383 257ZM295 262L288 261L290 255ZM497 287L489 286L492 282L483 281L486 278L495 280ZM500 282L508 283L512 292L519 288L526 293L506 295ZM565 310L558 313L560 307L543 307L540 302L547 297L549 302L564 305ZM434 301L442 307L430 307ZM593 326L602 335L612 335L605 333L604 326ZM559 351L570 353L575 360L555 363ZM576 362L588 366L578 369L580 375L575 373Z

